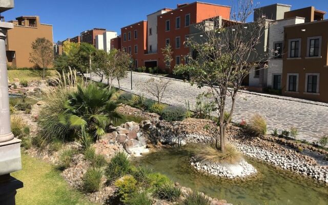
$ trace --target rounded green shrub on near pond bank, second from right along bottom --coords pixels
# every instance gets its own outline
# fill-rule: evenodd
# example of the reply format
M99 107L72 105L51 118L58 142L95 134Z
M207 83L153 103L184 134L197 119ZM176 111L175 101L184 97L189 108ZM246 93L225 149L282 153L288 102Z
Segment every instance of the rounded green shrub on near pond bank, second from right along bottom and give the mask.
M154 196L168 201L175 201L181 195L181 189L179 187L175 187L174 185L163 185L158 187Z

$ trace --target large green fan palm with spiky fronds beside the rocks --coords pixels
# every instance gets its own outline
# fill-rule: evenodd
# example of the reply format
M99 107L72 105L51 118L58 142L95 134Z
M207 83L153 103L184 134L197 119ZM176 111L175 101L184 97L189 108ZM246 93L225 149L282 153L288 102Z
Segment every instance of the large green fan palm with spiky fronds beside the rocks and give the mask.
M105 129L115 118L121 118L116 112L118 104L111 100L113 90L101 89L95 85L77 86L76 92L68 96L66 110L59 116L64 125L74 130L83 130L94 139L105 134Z

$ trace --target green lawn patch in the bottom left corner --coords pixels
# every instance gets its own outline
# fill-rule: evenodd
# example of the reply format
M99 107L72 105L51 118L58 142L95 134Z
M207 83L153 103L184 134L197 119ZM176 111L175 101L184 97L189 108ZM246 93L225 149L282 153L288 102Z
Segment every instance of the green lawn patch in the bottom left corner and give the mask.
M22 152L23 170L12 176L23 181L24 188L17 190L16 204L95 204L83 194L69 188L54 166Z

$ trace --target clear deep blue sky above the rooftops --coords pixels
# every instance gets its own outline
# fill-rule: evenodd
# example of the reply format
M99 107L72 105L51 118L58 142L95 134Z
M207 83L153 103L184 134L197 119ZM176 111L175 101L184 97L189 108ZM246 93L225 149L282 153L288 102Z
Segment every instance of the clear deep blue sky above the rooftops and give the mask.
M231 5L231 0L201 0L220 5ZM161 8L176 8L177 4L192 3L188 0L14 0L15 8L2 13L6 20L22 15L38 15L41 23L53 25L54 42L74 37L92 28L106 28L118 34L120 28L144 20L147 14ZM328 11L327 0L254 0L260 6L275 3L292 5L292 9L314 6ZM328 18L326 14L325 18Z

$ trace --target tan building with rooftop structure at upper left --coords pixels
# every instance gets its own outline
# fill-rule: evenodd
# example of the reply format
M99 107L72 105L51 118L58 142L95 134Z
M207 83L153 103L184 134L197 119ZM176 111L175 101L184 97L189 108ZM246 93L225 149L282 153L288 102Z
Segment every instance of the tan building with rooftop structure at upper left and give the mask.
M53 42L52 25L40 23L39 16L20 16L9 22L14 28L7 33L7 64L17 68L33 67L29 61L31 45L42 37Z

